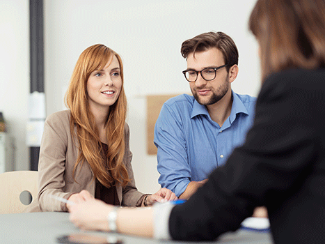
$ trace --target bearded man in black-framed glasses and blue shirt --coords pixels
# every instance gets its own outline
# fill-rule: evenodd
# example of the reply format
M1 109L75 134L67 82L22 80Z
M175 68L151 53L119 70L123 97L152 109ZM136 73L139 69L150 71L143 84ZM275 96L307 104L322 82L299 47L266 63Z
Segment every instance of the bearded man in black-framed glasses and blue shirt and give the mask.
M238 74L238 50L230 36L200 34L184 41L181 53L193 96L183 94L164 103L154 144L161 187L188 199L233 148L244 143L256 98L231 89Z

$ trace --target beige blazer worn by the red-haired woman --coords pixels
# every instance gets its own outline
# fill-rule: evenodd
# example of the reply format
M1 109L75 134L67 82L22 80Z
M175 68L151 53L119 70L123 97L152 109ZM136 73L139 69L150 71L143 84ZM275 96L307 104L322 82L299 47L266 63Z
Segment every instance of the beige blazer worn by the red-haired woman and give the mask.
M78 165L74 177L75 181L72 176L74 163L78 156L76 144L78 145L78 142L76 139L72 141L70 131L70 110L56 112L47 117L38 162L38 201L34 201L26 209L26 212L68 211L64 203L51 198L50 195L68 199L70 195L81 190L88 190L91 195L95 195L93 171L88 162ZM125 156L123 162L131 181L125 188L119 184L116 186L118 199L122 206L139 206L143 200L143 193L136 189L131 160L129 125L125 123Z

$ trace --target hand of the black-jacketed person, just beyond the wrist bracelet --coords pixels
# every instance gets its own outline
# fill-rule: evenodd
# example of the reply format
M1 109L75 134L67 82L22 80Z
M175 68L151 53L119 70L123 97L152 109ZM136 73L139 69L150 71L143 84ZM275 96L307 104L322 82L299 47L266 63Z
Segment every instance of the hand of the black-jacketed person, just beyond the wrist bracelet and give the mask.
M70 206L69 219L80 229L109 231L106 217L112 208L112 205L105 204L104 201L88 199Z

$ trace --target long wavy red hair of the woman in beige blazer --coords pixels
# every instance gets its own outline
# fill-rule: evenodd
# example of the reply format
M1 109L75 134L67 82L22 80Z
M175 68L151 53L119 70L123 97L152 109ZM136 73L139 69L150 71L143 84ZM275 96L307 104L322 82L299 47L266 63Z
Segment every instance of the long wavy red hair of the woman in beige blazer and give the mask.
M99 130L88 105L87 82L90 74L94 70L102 70L113 55L120 63L122 86L120 96L109 108L109 116L106 122L109 151L108 160L105 162ZM65 94L65 105L71 111L70 130L72 138L77 138L79 143L79 155L74 165L74 174L77 166L86 161L93 170L94 178L97 178L107 188L110 188L114 183L120 183L122 186L127 185L129 175L123 163L127 99L124 91L123 65L120 56L102 44L85 49L79 56L72 73L68 91ZM74 133L76 129L77 135Z

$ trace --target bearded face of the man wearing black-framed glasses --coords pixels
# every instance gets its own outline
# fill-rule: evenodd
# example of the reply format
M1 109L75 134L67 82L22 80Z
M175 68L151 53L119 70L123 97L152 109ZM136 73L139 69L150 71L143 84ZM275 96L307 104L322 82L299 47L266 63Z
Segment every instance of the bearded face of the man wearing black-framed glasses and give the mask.
M216 68L223 66L223 54L219 49L211 48L207 51L196 52L187 56L187 70L200 71L204 68ZM225 96L230 89L230 82L226 67L216 70L216 77L210 81L206 81L198 74L196 82L189 82L189 86L193 93L193 97L200 105L213 105Z

